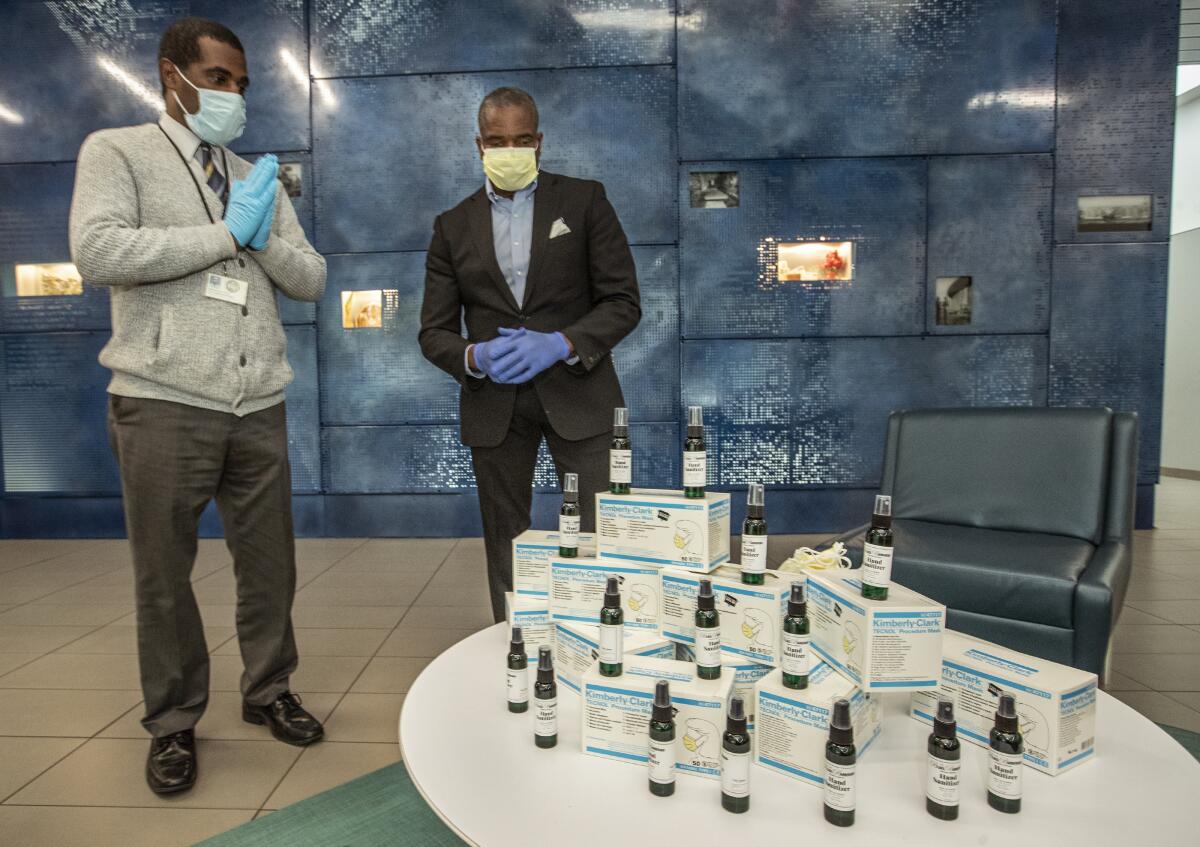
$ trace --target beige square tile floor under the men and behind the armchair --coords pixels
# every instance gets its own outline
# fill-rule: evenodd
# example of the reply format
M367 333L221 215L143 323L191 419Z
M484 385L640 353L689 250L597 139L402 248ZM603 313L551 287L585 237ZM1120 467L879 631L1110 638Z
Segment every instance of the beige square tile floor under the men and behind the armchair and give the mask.
M1158 498L1159 528L1135 540L1109 690L1200 732L1200 482L1165 479ZM158 799L142 775L126 542L0 541L0 843L191 845L397 761L409 685L491 623L482 543L302 540L298 558L294 687L326 740L288 747L241 722L232 564L203 541L193 582L212 695L200 781Z

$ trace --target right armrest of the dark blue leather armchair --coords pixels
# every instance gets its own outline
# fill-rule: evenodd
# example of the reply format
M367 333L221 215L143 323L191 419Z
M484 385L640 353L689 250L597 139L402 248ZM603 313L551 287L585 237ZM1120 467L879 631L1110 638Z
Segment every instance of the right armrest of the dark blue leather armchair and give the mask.
M1112 626L1124 602L1133 557L1124 541L1104 541L1075 585L1075 667L1103 674Z

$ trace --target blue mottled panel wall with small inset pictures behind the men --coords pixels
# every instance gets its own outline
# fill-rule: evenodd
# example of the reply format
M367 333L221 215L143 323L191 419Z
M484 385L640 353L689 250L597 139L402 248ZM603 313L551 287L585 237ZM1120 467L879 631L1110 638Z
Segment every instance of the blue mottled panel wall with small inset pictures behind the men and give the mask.
M634 245L643 320L614 356L640 482L677 485L701 403L710 485L769 483L775 531L836 530L894 408L1109 404L1142 415L1151 519L1176 0L54 0L0 5L0 535L122 533L108 295L17 296L12 268L70 260L79 144L155 119L182 14L240 35L234 149L294 167L329 259L320 304L280 301L302 534L479 531L457 388L415 335L433 217L482 184L474 115L502 84ZM1111 196L1145 199L1085 199L1080 226ZM850 278L781 280L797 241L850 241ZM364 292L380 325L349 329ZM546 522L545 449L536 483Z

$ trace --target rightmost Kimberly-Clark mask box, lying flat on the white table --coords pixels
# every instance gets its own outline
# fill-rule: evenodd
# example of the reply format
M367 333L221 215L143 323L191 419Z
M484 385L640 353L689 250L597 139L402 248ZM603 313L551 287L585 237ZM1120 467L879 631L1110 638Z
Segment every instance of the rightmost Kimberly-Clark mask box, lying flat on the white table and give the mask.
M959 734L986 747L1001 691L1016 697L1025 762L1055 776L1096 753L1096 674L947 630L942 684L912 696L932 723L937 698L954 701Z

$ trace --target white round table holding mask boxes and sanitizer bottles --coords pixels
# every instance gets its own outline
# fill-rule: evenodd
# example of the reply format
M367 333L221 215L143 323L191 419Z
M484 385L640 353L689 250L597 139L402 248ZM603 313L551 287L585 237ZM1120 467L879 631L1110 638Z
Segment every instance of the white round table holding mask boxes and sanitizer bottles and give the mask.
M506 653L503 624L460 642L425 668L400 715L413 783L473 845L1200 843L1200 763L1103 692L1094 761L1055 777L1026 768L1019 815L988 806L986 751L964 741L962 803L952 822L925 812L929 727L907 716L907 695L886 695L882 732L858 767L857 823L839 829L822 816L820 787L757 765L744 815L721 809L716 780L690 774L678 775L673 797L654 797L644 765L580 750L580 698L562 684L558 746L534 746L533 710L506 709Z

